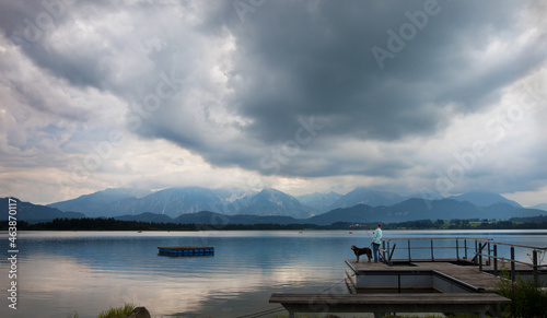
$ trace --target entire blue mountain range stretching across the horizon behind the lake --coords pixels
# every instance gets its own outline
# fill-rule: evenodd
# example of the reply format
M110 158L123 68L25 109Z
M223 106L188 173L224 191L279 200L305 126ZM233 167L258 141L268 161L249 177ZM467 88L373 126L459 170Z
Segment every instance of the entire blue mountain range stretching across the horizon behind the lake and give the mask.
M259 192L200 187L160 191L118 188L47 207L25 204L21 203L26 209L22 215L27 220L103 216L175 223L200 223L197 221L203 221L203 217L206 221L208 217L217 217L242 224L267 222L328 225L335 222L403 222L424 219L505 220L545 213L538 209L525 209L517 202L491 192L475 191L449 198L428 195L426 199L421 195L406 197L362 187L347 195L316 192L299 197L274 188ZM36 211L31 213L34 210ZM209 219L208 222L212 221Z

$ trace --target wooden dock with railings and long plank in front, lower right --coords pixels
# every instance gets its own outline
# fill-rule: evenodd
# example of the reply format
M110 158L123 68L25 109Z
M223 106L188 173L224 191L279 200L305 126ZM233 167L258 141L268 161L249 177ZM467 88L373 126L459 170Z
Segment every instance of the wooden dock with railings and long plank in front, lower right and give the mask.
M516 248L528 251L532 262L516 259ZM470 237L383 239L381 262L345 261L348 294L275 293L270 303L280 303L289 317L319 311L374 313L374 317L386 311L476 313L480 317L488 313L498 317L503 315L502 306L511 303L496 294L499 274L505 271L513 282L516 275L536 282L546 279L547 266L538 258L545 250Z

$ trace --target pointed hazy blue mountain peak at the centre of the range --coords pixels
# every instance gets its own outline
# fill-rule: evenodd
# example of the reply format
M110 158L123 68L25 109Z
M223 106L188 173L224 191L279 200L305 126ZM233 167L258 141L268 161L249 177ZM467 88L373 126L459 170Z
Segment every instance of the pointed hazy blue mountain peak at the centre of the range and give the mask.
M253 215L277 215L292 216L296 219L309 217L314 210L302 204L294 197L283 193L279 190L269 188L264 189L252 197L246 207L241 209L237 214Z

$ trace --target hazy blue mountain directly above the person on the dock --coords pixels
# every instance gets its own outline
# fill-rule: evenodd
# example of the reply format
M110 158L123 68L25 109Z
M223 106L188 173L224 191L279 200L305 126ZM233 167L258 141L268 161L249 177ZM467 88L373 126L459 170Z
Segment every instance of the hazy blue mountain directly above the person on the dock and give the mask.
M342 196L330 204L329 210L338 208L350 208L357 204L366 204L370 207L385 205L389 207L404 201L401 197L394 192L373 190L364 187L356 188L353 191Z

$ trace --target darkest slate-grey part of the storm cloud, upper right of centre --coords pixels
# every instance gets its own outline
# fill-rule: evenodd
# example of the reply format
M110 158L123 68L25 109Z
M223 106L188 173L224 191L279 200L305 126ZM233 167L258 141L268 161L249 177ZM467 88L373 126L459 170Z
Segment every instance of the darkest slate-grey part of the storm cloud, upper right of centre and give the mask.
M408 22L405 12L420 10L423 2L391 2L380 11L370 2L319 2L314 12L282 2L256 13L234 32L234 72L244 79L234 86L240 111L255 119L249 131L267 141L286 139L283 128L293 126L295 116L315 115L333 118L329 133L341 136L393 140L431 133L449 120L447 103L457 104L456 111L477 110L485 96L542 61L537 50L524 50L509 66L499 66L505 71L474 70L469 56L488 43L486 30L514 35L508 30L513 24L492 25L485 14L496 11L499 22L508 22L519 8L472 2L452 8L440 1L440 13L380 69L371 48L386 48L386 30ZM456 48L459 55L454 56ZM519 67L515 60L529 64ZM470 76L459 80L456 70ZM440 110L431 111L431 103Z

